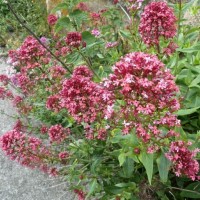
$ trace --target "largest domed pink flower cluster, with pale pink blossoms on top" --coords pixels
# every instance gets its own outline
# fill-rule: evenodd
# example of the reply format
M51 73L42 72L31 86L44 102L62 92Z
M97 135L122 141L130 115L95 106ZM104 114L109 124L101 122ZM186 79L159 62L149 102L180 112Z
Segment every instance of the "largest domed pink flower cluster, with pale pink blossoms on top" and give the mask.
M179 89L156 56L142 52L127 54L113 66L113 74L104 86L115 93L116 99L124 101L112 119L122 124L125 134L135 128L138 137L147 143L161 137L159 127L179 126L173 114L180 107L175 96Z

